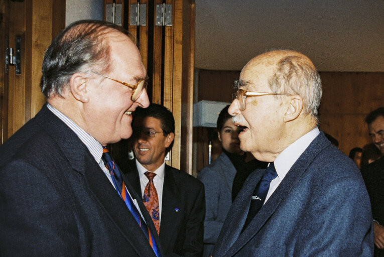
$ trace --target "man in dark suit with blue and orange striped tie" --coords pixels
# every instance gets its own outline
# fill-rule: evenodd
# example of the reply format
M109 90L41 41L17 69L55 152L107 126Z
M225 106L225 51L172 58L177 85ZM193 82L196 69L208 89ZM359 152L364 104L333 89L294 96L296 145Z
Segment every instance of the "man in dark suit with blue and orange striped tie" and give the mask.
M132 36L70 25L46 51L40 86L48 103L0 147L0 255L161 256L141 198L104 163L103 147L129 138L132 112L149 105Z

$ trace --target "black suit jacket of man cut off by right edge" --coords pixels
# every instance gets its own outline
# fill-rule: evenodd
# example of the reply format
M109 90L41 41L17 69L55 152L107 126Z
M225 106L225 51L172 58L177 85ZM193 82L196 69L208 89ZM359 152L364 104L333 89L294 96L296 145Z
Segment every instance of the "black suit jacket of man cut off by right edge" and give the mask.
M384 157L361 170L372 205L372 216L384 225ZM375 257L384 257L384 249L374 248Z

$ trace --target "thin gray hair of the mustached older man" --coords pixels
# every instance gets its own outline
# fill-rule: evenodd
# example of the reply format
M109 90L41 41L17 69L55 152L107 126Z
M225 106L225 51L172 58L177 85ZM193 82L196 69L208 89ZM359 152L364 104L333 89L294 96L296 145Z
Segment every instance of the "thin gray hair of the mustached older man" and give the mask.
M308 58L292 54L280 59L275 74L269 80L269 86L275 93L300 95L304 101L304 113L319 121L321 79Z

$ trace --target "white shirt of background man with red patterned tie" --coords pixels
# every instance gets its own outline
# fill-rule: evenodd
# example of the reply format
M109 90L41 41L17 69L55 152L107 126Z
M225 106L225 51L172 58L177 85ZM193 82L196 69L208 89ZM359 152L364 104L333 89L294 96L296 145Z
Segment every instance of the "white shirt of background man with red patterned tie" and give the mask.
M147 176L144 173L146 173L148 170L143 165L141 165L141 163L139 163L139 161L137 159L135 159L135 161L136 161L136 167L138 168L138 172L139 172L140 186L141 186L141 189L143 192L142 197L144 197L144 190L145 190L145 188L149 182L149 179L147 178ZM154 173L156 173L156 176L153 178L153 184L156 188L157 196L159 199L159 220L161 221L161 209L162 209L161 204L163 202L165 161L163 162L162 165L160 165L159 168L157 168L156 171L154 171Z

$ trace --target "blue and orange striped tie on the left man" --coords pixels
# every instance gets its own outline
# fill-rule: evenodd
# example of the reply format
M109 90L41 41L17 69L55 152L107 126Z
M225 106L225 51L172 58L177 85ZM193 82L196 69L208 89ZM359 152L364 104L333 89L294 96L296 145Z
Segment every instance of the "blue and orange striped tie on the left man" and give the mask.
M149 243L152 246L156 256L161 257L160 251L156 246L155 239L151 234L149 227L147 226L143 217L140 215L138 209L136 208L134 202L131 199L131 196L129 195L129 193L125 188L124 181L121 178L120 170L118 169L117 166L114 165L114 161L109 155L108 149L106 149L105 147L103 147L102 160L105 164L105 167L108 169L110 173L114 187L119 193L121 199L125 202L126 206L131 211L132 215L135 217L136 221L138 222L140 228L143 230L144 234L147 236L147 239L149 240Z

